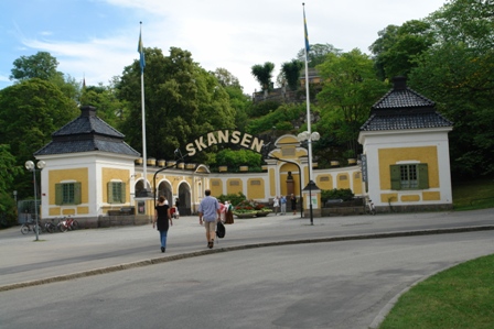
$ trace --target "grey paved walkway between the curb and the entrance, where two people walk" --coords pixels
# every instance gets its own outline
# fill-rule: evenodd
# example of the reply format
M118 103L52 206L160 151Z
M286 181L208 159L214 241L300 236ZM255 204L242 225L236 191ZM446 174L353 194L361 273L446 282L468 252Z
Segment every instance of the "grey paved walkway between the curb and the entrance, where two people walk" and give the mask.
M314 218L312 226L309 218L270 215L235 219L226 228L226 237L208 250L197 217L181 217L169 231L164 254L151 224L42 233L39 241L10 228L0 231L0 292L247 248L492 230L494 209Z

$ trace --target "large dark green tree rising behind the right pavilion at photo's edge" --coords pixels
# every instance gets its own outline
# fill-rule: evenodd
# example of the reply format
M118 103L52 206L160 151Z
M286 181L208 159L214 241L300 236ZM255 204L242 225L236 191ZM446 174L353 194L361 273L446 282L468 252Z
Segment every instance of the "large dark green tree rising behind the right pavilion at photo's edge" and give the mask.
M454 179L494 173L494 52L490 1L457 0L430 15L438 43L417 59L409 85L454 123Z

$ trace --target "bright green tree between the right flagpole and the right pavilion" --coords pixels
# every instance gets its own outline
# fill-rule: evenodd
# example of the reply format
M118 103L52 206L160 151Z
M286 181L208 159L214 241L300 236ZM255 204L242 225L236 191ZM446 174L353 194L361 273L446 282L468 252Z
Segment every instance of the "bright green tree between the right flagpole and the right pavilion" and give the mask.
M359 128L387 86L377 78L373 61L359 50L329 54L316 68L325 81L316 97L322 108L319 133L335 135L356 156Z

